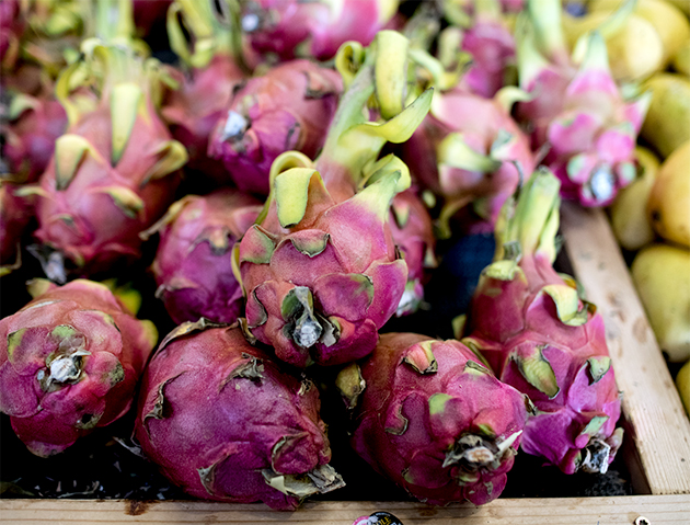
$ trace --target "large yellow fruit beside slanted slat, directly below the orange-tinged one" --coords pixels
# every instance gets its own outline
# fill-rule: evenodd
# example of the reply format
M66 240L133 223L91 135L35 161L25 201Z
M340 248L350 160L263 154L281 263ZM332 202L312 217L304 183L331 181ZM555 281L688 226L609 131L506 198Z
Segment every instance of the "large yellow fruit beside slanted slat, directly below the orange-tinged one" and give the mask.
M635 255L631 273L649 324L669 361L690 358L690 250L649 244Z

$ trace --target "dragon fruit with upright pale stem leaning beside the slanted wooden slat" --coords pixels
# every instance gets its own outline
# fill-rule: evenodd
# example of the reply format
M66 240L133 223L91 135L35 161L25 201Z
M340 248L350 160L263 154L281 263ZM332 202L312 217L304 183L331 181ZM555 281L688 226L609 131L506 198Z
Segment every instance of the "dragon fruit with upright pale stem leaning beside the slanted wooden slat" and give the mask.
M462 342L534 403L522 450L565 473L603 473L622 441L621 401L601 316L552 267L559 186L544 169L506 203Z

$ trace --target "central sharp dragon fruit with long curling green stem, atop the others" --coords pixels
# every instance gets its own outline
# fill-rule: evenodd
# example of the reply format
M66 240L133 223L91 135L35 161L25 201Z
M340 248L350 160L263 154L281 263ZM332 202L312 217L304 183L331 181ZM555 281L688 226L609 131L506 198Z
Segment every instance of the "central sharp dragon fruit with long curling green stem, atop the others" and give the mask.
M313 163L299 152L276 159L264 212L235 249L248 330L292 365L368 354L404 293L407 265L388 219L410 172L393 155L377 158L387 140L406 140L430 104L427 90L404 106L407 43L383 31L369 49L338 52L336 62L356 72L322 152ZM388 117L366 121L371 95Z

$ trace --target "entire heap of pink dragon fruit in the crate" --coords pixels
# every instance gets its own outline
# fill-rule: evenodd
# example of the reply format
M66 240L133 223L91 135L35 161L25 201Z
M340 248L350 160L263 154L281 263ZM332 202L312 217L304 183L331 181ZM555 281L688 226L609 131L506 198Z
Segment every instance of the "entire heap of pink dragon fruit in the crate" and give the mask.
M341 427L429 504L498 498L518 450L605 473L621 396L600 315L554 269L560 205L635 178L648 96L598 32L567 46L562 9L3 1L2 286L39 270L0 321L16 436L49 457L135 413L187 494L274 509L337 498ZM404 331L439 247L482 235L453 336ZM142 261L153 299L126 283Z

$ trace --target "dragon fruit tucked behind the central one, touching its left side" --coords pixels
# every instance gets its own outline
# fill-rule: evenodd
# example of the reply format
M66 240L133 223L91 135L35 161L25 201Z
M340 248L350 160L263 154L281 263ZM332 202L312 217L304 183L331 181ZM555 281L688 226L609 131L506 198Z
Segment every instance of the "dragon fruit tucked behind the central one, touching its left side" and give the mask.
M157 296L175 323L204 317L237 321L242 289L230 271L232 247L261 212L261 204L234 189L187 195L145 232L161 236L152 270Z

